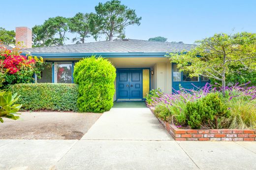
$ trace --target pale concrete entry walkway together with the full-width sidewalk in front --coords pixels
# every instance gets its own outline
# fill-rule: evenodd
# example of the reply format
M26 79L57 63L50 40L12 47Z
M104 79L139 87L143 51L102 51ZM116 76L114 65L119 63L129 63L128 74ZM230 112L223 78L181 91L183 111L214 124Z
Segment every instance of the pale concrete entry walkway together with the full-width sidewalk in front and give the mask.
M0 140L0 170L256 169L256 142L176 142L147 108L104 113L77 140Z

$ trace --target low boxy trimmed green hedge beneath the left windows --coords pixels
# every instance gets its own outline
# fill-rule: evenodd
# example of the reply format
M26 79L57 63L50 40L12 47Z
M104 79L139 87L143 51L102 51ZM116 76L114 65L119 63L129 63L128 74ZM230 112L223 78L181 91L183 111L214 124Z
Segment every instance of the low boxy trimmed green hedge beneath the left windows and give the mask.
M75 84L15 84L12 92L20 95L17 103L22 110L78 111L78 85Z

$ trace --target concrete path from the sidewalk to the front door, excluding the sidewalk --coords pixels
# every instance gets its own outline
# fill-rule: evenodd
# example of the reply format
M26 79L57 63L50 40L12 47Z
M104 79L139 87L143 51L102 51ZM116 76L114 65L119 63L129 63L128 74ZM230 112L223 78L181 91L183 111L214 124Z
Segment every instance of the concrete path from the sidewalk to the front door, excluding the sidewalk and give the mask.
M113 108L81 140L173 140L148 108Z

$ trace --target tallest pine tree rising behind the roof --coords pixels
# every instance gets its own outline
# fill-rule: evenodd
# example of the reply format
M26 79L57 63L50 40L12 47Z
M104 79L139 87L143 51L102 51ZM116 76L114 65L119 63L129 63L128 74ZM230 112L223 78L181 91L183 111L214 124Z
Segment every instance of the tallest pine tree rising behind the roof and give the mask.
M111 0L95 7L97 15L98 34L105 34L107 40L114 36L125 38L125 27L140 25L141 17L137 17L135 10L122 5L119 0Z

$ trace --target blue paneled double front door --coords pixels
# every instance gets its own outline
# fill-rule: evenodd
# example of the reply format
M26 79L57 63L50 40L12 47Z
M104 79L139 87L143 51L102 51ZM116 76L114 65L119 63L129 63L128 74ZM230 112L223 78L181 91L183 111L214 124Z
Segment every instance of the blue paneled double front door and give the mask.
M117 99L142 99L142 70L117 71Z

